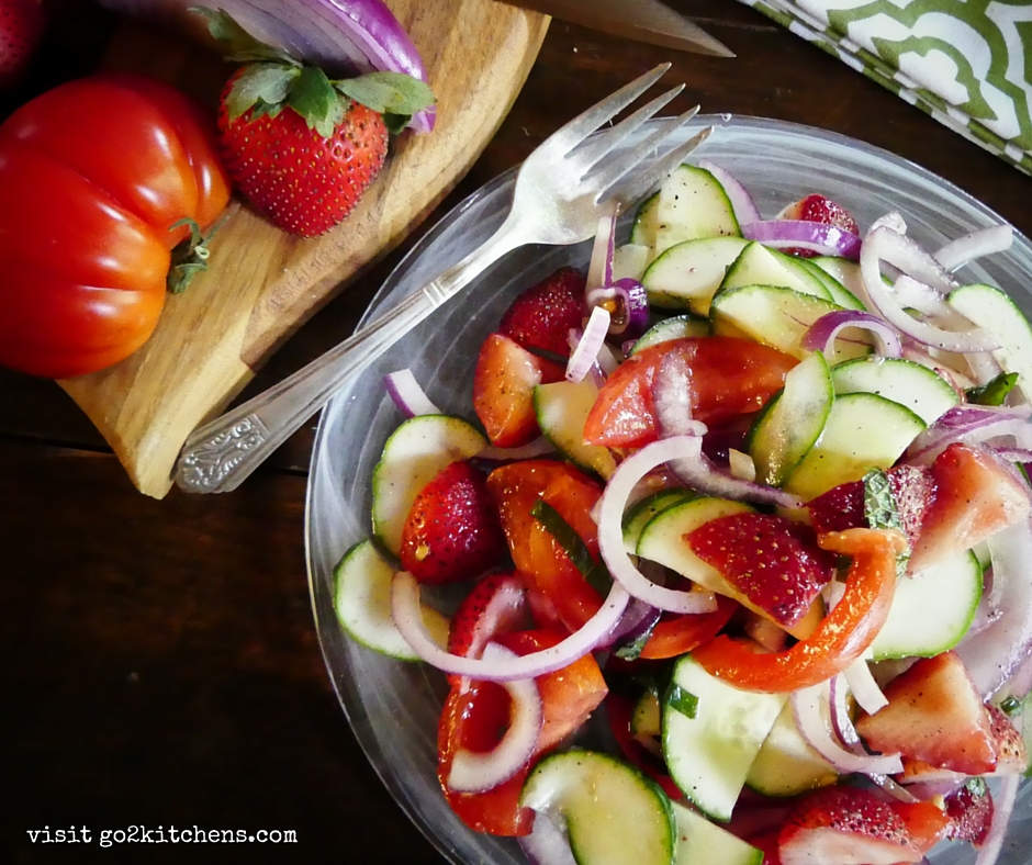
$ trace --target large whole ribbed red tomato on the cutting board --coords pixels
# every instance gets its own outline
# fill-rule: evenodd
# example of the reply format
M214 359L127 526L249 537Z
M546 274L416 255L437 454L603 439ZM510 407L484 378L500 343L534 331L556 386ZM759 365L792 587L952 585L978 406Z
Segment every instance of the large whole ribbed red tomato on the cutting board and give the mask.
M0 124L0 366L67 378L132 355L172 248L223 211L214 122L179 91L101 75Z

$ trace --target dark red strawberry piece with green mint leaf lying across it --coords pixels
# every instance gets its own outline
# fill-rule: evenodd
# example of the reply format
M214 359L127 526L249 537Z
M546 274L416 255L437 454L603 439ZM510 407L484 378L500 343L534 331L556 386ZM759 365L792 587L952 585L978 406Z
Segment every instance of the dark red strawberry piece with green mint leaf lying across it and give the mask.
M923 465L897 465L886 472L899 508L904 533L913 547L924 514L935 497L931 470ZM807 504L818 535L867 526L864 513L864 483L851 481L817 496Z

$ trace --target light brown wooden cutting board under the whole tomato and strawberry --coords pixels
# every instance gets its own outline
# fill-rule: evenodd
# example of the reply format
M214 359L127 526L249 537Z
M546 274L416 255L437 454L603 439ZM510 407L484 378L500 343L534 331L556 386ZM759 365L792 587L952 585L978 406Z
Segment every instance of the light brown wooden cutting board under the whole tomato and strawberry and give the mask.
M111 445L136 487L162 497L183 441L215 417L270 353L371 262L395 247L469 170L537 57L549 19L497 0L388 0L438 99L428 135L405 133L355 211L313 239L231 204L212 265L168 297L148 342L61 387ZM205 48L125 24L104 66L162 78L214 105L227 68Z

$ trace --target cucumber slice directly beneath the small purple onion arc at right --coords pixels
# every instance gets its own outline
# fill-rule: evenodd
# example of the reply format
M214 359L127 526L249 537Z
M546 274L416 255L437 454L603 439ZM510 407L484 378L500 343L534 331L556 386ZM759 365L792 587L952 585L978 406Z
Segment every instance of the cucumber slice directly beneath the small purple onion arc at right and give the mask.
M927 425L934 424L961 397L938 372L902 358L857 358L831 371L837 394L875 393L907 406Z

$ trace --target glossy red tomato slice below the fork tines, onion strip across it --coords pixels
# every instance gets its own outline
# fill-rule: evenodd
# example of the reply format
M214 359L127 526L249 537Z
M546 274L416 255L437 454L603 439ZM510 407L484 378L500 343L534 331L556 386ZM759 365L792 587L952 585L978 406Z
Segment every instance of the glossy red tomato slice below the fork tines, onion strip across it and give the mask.
M680 353L692 379L692 416L720 425L755 412L798 361L777 349L728 336L673 339L633 355L598 392L584 438L610 448L640 448L657 438L652 385L668 353Z

